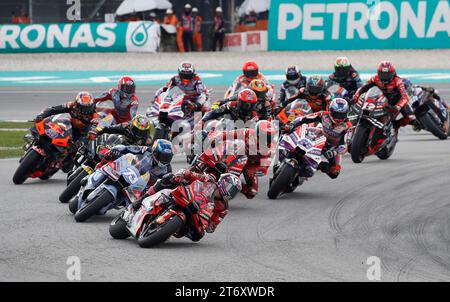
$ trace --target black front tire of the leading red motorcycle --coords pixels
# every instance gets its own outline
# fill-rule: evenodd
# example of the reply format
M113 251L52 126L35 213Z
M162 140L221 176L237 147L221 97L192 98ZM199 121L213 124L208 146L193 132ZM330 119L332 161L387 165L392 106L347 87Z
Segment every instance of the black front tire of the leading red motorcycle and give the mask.
M139 237L138 244L142 248L149 248L163 243L182 228L183 224L184 222L180 217L172 216L152 233Z

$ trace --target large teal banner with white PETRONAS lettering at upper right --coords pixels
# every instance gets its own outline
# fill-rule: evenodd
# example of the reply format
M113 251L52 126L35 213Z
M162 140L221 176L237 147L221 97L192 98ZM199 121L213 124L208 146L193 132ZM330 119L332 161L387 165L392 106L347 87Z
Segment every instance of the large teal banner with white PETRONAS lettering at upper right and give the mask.
M448 0L271 1L269 50L450 48Z

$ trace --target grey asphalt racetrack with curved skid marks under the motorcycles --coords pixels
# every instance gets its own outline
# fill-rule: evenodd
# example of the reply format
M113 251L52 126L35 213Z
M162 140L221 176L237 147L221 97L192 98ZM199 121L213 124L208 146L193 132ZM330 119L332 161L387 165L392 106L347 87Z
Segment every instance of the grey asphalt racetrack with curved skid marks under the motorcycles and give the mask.
M78 89L1 88L0 119L29 119ZM69 256L84 281L368 281L370 256L381 259L382 281L450 281L449 151L450 140L406 131L391 159L346 157L337 180L318 173L276 201L261 179L258 197L233 200L216 233L154 249L113 240L114 211L75 223L58 201L65 175L14 186L17 160L0 160L0 281L65 281Z

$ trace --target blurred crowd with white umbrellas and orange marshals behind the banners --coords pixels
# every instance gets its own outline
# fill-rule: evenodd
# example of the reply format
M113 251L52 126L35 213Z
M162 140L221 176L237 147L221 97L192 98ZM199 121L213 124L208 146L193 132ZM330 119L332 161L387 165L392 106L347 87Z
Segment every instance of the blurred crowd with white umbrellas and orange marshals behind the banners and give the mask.
M67 2L77 1L73 20ZM225 33L267 30L269 7L270 0L2 0L0 24L154 21L173 37L170 51L221 51Z

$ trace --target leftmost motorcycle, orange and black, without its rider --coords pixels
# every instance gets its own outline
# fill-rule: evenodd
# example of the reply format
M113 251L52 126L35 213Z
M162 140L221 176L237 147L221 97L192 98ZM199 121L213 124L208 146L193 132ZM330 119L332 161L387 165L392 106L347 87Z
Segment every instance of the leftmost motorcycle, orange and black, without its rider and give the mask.
M63 166L72 139L70 117L58 114L35 122L25 136L25 154L13 176L15 184L27 178L42 180L52 177Z

